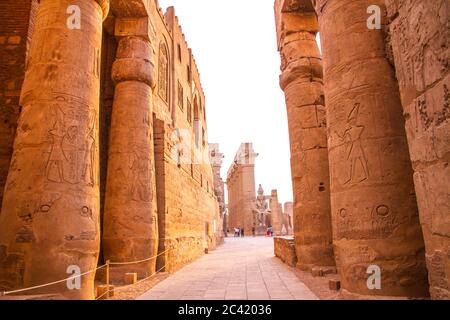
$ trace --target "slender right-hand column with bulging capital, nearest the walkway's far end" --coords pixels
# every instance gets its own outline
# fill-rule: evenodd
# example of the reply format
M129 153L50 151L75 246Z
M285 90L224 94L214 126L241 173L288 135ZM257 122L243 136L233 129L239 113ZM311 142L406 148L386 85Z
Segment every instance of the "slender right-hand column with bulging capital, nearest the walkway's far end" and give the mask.
M286 95L297 266L334 266L322 60L314 8L276 2L281 88ZM305 2L305 1L303 1ZM304 10L304 11L303 11ZM272 219L273 219L272 213Z

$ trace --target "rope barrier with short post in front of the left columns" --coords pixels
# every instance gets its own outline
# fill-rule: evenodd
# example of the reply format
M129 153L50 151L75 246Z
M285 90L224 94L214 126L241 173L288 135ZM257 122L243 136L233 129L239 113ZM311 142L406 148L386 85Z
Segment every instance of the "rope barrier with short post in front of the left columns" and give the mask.
M97 267L97 268L92 269L92 270L90 270L90 271L86 271L85 273L82 273L82 274L79 274L79 275L76 275L76 276L70 276L70 277L68 277L68 278L66 278L66 279L63 279L63 280L58 280L58 281L54 281L54 282L50 282L50 283L46 283L46 284L42 284L42 285L38 285L38 286L34 286L34 287L29 287L29 288L23 288L23 289L18 289L18 290L13 290L13 291L0 292L0 297L6 296L6 295L15 294L15 293L20 293L20 292L26 292L26 291L31 291L31 290L35 290L35 289L40 289L40 288L44 288L44 287L49 287L49 286L53 286L53 285L59 284L59 283L64 283L64 282L67 282L67 281L69 281L69 280L81 278L81 277L83 277L83 276L85 276L85 275L91 274L91 273L93 273L93 272L96 272L97 270L100 270L100 269L103 269L103 268L106 267L106 268L107 268L107 274L108 274L108 275L107 275L107 281L106 281L106 282L107 282L107 286L108 286L108 291L105 292L105 293L103 293L101 296L99 296L99 297L96 298L96 300L99 300L100 298L102 298L102 297L105 296L106 294L109 294L109 292L112 291L112 290L109 290L109 267L110 267L110 266L112 266L112 265L131 265L131 264L138 264L138 263L142 263L142 262L147 262L147 261L150 261L150 260L152 260L152 259L158 258L159 256L161 256L161 255L163 255L163 254L165 254L165 253L167 253L167 252L169 252L169 251L171 251L171 250L173 250L173 249L165 250L165 251L163 251L163 252L157 254L156 256L153 256L153 257L147 258L147 259L143 259L143 260L139 260L139 261L133 261L133 262L109 262L109 261L107 261L106 264L104 264L104 265L102 265L102 266L100 266L100 267ZM145 280L148 280L148 279L150 279L151 277L153 277L154 275L158 274L158 273L159 273L161 270L163 270L166 266L167 266L167 265L164 265L164 267L162 267L161 269L157 270L154 274L152 274L151 276L149 276L149 277L147 277L147 278L145 278L145 279L139 280L138 282L133 283L133 284L130 284L130 285L127 285L127 286L123 286L123 287L121 287L121 288L126 288L126 287L128 287L128 286L136 285L136 284L141 283L141 282L143 282L143 281L145 281ZM108 295L108 296L109 296L109 295Z

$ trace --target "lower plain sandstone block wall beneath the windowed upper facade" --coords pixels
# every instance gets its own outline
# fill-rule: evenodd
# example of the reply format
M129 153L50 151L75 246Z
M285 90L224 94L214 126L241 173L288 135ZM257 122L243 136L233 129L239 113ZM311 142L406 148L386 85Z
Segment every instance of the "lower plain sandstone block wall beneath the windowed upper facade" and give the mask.
M157 269L171 272L216 247L214 224L218 225L219 204L213 190L206 190L190 172L170 157L168 127L157 121L155 160L158 218L160 226Z

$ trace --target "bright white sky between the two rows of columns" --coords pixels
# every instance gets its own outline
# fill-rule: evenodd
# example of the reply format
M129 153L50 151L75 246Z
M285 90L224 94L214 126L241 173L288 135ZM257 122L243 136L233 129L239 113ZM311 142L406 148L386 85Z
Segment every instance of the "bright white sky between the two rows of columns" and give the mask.
M242 142L253 142L256 186L292 201L289 135L279 87L272 0L159 0L175 7L206 95L209 142L225 154L225 179Z

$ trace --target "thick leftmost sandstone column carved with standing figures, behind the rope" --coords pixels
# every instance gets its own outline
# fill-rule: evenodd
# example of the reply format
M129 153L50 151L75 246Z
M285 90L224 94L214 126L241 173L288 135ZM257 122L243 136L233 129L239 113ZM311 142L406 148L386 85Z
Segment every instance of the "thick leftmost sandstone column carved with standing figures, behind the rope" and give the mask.
M81 28L69 29L70 5ZM22 87L14 154L0 215L0 290L95 269L100 244L99 74L108 0L41 0ZM91 299L66 283L24 292Z

